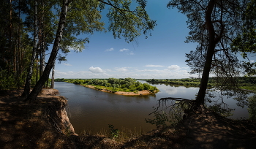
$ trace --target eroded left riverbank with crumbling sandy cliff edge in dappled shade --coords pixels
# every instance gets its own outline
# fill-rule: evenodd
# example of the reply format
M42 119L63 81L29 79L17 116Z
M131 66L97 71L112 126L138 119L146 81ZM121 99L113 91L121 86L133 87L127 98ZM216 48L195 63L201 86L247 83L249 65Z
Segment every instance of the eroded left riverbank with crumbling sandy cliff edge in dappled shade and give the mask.
M66 136L77 135L57 90L43 89L31 104L22 92L0 91L0 148L59 148Z

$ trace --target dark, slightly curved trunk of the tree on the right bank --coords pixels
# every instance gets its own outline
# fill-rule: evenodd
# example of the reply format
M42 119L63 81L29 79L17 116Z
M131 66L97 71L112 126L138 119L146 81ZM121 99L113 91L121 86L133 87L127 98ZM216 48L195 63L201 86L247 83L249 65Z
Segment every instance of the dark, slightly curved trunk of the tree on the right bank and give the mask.
M214 5L215 5L215 0L209 1L208 7L206 10L206 28L208 29L208 37L209 37L208 49L207 49L207 54L206 54L205 66L203 68L203 75L202 75L202 79L200 81L200 88L197 93L197 99L195 100L195 108L198 108L198 107L200 107L200 105L204 104L206 89L207 89L207 84L208 84L208 78L209 78L210 71L211 71L212 57L214 56L216 42L215 42L214 26L211 21L211 14L214 9Z

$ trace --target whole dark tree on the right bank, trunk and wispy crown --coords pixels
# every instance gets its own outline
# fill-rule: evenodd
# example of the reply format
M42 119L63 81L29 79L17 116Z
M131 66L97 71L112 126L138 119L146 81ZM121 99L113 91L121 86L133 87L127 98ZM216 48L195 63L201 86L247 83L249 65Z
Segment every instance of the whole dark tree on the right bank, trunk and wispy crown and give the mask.
M230 44L241 32L241 14L246 3L248 1L173 0L167 4L187 15L190 31L186 42L198 43L196 50L186 54L191 73L201 75L195 108L205 102L210 74L236 83L234 78L242 73L241 63L232 53Z

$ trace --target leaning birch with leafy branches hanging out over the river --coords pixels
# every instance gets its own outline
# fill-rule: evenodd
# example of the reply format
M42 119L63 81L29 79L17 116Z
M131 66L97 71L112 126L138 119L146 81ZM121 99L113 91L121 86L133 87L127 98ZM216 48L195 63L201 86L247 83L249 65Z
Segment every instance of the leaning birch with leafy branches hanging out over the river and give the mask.
M110 20L109 31L113 32L113 37L124 39L127 42L132 41L135 37L143 34L147 34L147 31L154 28L155 21L150 20L146 13L146 1L137 0L138 7L134 11L130 10L131 1L129 0L115 0L115 1L102 1L102 0L80 0L61 1L61 15L59 18L59 26L56 31L56 38L53 44L53 50L50 53L48 64L45 67L45 71L42 73L39 81L33 88L33 91L29 94L25 101L32 102L37 98L39 91L42 90L42 86L45 81L48 80L50 69L53 68L54 61L59 51L59 45L65 30L64 23L72 23L72 26L79 28L77 35L80 33L93 33L94 31L102 31L103 23L100 22L100 12L105 8L105 5L109 6L108 18ZM69 7L70 4L70 7ZM68 11L68 8L70 11ZM69 20L70 18L70 20ZM72 20L73 19L73 20ZM68 25L67 25L68 26ZM72 32L73 34L73 32Z

